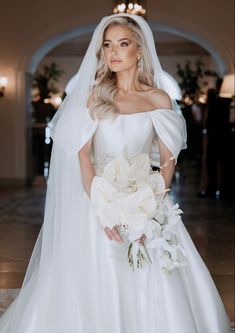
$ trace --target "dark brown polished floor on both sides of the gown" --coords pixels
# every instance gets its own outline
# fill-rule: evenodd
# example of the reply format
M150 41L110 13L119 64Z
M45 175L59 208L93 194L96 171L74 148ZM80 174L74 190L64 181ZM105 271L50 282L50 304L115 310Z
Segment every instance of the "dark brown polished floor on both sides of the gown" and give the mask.
M182 180L183 178L183 180ZM234 216L229 201L196 196L191 167L171 195L234 322ZM0 188L0 291L20 288L43 220L45 186Z

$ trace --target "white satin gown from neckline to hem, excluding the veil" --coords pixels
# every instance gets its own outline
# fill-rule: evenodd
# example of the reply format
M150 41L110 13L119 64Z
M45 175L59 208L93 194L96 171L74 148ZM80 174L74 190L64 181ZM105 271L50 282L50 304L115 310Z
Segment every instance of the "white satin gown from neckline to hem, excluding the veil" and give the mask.
M119 115L113 122L90 122L84 128L89 132L84 141L93 136L97 173L114 157L140 153L156 157L152 145L157 136L177 155L179 129L173 113L156 110ZM56 140L54 144L58 144ZM60 172L58 151L53 154L57 154L56 170ZM50 177L47 201L52 205L54 200L57 219L66 223L54 227L49 238L51 226L45 222L39 236L41 264L39 260L30 268L33 273L1 318L1 333L231 332L215 284L182 222L179 236L187 266L166 274L155 261L133 272L126 244L108 240L88 196L84 190L76 192L77 180L64 185L64 193L68 191L70 196L60 201L53 193L53 175ZM69 210L65 216L63 205ZM46 220L49 218L52 216L46 213Z

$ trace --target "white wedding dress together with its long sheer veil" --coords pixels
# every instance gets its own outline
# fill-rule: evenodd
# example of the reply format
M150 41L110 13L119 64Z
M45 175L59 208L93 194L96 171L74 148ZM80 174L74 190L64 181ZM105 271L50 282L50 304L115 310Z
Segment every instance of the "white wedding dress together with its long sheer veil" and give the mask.
M110 241L84 191L78 151L93 139L95 171L116 157L147 154L159 166L158 138L175 161L186 148L185 123L158 109L93 120L87 99L97 68L97 40L117 15L102 19L68 96L52 121L53 149L43 227L19 296L0 319L1 333L229 333L229 319L182 221L187 265L164 273L158 260L133 271L126 243ZM146 38L155 85L164 88L148 24L131 14ZM166 89L167 91L167 89ZM167 195L169 205L173 205Z

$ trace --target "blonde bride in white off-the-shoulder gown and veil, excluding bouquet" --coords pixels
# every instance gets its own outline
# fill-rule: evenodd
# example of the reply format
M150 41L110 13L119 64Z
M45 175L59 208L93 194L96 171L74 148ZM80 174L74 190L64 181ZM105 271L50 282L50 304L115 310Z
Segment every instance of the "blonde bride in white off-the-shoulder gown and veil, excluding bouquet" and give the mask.
M109 161L143 153L169 187L186 148L184 119L164 88L143 18L103 18L52 126L44 224L0 332L229 333L182 221L178 241L187 265L167 274L155 260L133 271L118 228L101 227L89 198L95 174Z

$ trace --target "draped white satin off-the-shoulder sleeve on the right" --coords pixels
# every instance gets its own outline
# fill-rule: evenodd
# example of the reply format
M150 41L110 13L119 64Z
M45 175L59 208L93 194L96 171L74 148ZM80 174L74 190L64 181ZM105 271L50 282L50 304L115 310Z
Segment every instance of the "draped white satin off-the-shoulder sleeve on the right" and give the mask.
M173 110L158 109L150 112L156 136L159 137L174 156L175 163L182 149L187 148L187 132L184 117ZM160 165L157 140L152 146L152 163Z

